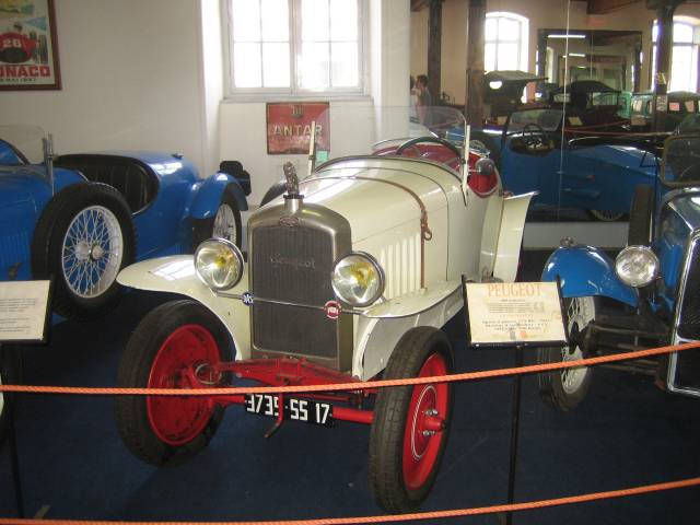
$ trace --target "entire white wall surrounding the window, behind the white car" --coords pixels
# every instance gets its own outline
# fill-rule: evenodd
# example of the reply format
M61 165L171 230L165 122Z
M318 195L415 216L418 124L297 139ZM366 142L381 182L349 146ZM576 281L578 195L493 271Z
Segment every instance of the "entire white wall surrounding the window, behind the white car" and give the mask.
M1 93L0 124L42 126L59 153L179 152L203 174L237 159L253 179L252 203L282 176L287 160L305 171L304 155L267 154L265 102L281 101L224 100L220 0L55 3L63 89ZM409 0L366 0L365 7L368 93L332 105L407 105Z

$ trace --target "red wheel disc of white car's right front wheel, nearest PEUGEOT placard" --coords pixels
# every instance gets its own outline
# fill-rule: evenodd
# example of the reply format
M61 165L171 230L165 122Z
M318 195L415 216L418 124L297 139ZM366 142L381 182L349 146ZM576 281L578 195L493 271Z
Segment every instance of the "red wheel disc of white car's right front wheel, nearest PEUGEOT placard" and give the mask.
M445 359L433 353L423 363L418 377L446 374ZM448 399L446 383L413 387L404 435L404 479L409 490L420 489L435 469L445 439Z

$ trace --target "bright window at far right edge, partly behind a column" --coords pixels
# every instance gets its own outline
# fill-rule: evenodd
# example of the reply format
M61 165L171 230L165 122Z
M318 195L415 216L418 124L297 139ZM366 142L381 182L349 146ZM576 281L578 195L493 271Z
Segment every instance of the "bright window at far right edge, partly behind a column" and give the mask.
M656 40L658 24L652 31L652 88L656 86ZM697 91L698 89L698 25L690 21L674 22L674 54L670 63L668 91Z

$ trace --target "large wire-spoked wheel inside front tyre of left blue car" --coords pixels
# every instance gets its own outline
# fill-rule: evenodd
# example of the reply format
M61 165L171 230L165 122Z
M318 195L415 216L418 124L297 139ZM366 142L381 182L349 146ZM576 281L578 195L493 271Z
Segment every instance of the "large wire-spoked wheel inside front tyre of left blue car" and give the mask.
M70 290L83 299L102 295L121 266L119 221L103 206L85 208L68 225L61 252L63 279Z

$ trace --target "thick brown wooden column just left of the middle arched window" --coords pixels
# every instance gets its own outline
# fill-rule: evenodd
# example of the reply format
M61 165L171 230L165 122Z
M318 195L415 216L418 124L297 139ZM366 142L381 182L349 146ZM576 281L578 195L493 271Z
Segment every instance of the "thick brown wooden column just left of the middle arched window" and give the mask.
M476 128L483 126L483 51L486 31L486 0L469 0L467 23L467 89L465 115Z

